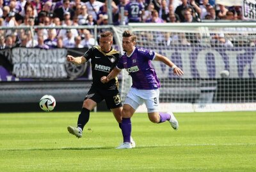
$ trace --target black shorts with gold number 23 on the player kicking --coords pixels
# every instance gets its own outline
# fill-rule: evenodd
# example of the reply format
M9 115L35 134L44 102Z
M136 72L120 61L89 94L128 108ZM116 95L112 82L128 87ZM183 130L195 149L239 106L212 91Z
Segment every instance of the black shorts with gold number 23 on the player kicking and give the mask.
M102 88L91 87L86 94L85 99L92 99L96 103L100 103L105 100L108 109L120 108L122 107L121 97L118 89L107 90Z

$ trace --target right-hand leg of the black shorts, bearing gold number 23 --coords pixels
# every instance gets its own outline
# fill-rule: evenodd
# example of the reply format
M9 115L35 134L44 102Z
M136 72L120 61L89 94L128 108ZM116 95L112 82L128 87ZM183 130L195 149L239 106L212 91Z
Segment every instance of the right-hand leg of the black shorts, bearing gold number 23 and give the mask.
M108 109L115 109L115 108L122 107L121 97L118 89L101 90L101 93L106 101Z

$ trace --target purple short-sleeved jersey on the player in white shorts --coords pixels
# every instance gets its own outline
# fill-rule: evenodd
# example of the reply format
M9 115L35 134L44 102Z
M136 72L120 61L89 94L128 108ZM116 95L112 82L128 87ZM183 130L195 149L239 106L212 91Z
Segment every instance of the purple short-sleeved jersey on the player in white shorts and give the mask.
M156 71L152 68L151 61L156 56L155 52L136 47L131 56L122 55L118 69L126 69L132 77L132 87L141 90L152 90L160 87Z

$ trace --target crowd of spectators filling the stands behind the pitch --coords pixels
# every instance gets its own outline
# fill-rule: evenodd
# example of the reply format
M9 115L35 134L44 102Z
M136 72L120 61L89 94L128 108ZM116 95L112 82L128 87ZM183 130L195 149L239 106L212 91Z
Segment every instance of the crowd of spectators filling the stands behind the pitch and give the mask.
M97 0L0 0L0 26L108 25L107 2ZM113 0L111 7L114 25L126 25L130 22L243 20L241 6L228 7L215 4L214 0ZM124 15L120 12L122 9L124 9ZM90 48L97 45L97 40L92 34L92 31L88 29L36 29L35 32L24 29L1 30L0 49L12 47ZM214 39L220 39L220 37L221 35L215 35Z

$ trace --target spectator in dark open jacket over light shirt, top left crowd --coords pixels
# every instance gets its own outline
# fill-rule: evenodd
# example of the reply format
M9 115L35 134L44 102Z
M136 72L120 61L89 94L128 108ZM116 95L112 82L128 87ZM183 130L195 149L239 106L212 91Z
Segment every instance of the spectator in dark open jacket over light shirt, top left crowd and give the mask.
M70 13L70 19L72 20L74 17L74 10L70 8L70 1L69 0L63 0L63 6L60 8L57 8L54 10L54 15L58 16L60 20L64 20L65 13Z

